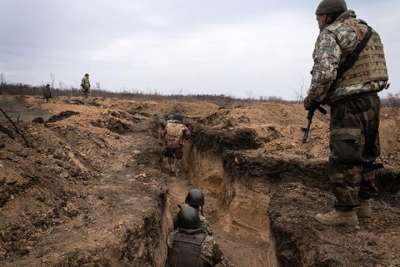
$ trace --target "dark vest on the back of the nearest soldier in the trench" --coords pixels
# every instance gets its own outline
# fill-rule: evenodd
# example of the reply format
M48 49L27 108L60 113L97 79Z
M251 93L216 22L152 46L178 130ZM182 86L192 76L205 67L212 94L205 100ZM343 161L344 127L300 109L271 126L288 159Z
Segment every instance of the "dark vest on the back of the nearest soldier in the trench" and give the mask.
M177 232L170 253L168 267L205 267L209 266L201 258L201 244L206 238L202 231L193 234Z

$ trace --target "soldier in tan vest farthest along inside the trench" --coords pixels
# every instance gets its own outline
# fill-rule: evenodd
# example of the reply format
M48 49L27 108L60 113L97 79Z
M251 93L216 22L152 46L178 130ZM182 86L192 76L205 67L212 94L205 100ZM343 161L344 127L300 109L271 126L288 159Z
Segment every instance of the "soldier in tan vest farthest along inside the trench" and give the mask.
M163 156L168 158L169 171L175 174L179 171L178 165L183 156L184 139L190 134L182 120L181 116L170 114L163 133L165 142Z

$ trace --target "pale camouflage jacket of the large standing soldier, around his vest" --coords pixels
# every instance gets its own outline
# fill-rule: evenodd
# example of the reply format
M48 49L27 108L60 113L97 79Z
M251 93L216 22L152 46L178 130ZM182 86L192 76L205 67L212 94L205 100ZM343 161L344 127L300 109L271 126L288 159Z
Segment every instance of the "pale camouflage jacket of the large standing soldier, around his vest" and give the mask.
M387 81L361 82L328 92L337 79L339 65L360 42L359 33L345 23L346 20L355 19L354 11L346 11L319 34L313 53L314 67L308 91L310 100L332 103L350 95L380 91L386 86Z

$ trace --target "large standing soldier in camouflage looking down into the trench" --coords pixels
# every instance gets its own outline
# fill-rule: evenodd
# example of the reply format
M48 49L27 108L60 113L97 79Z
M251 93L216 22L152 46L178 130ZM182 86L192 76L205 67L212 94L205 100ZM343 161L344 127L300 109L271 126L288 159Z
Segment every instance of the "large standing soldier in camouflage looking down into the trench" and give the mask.
M321 32L304 107L331 107L329 173L336 203L315 218L326 225L356 226L359 217L371 216L368 200L377 194L378 92L388 88L385 55L378 33L344 0L323 0L316 15Z

